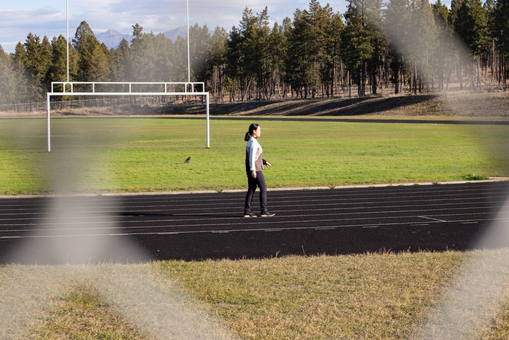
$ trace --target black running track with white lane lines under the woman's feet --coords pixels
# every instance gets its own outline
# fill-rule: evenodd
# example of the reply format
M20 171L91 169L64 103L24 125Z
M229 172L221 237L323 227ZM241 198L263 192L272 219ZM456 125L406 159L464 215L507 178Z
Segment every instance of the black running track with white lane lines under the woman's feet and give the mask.
M479 182L269 191L270 218L243 218L240 192L2 199L0 263L466 250L503 218L508 189Z

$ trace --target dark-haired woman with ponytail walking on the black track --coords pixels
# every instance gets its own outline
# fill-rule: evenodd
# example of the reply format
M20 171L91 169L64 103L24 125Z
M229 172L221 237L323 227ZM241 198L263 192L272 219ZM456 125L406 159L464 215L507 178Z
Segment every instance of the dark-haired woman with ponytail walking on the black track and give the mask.
M244 217L257 217L256 214L251 212L251 202L253 199L256 187L260 188L260 207L262 217L274 216L267 210L267 185L263 177L263 166L266 165L270 168L269 162L262 158L262 146L258 143L258 137L262 135L262 129L258 124L249 125L249 130L244 137L247 141L246 145L246 174L247 174L247 194L244 204Z

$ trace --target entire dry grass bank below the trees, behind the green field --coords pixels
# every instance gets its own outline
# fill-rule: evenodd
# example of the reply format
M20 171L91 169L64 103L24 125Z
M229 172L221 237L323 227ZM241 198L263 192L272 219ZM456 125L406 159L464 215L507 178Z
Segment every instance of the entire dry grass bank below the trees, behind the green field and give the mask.
M454 92L447 95L397 95L385 97L291 99L211 104L213 115L313 116L313 117L491 117L509 119L508 92ZM52 116L128 116L204 114L204 105L169 104L162 107L84 107L52 110ZM0 112L0 118L45 117L46 112Z

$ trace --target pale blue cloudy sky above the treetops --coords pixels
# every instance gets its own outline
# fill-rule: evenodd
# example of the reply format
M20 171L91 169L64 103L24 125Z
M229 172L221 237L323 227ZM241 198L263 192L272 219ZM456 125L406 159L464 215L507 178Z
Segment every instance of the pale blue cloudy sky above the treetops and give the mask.
M327 2L320 2L325 6ZM334 12L344 13L346 0L328 2ZM211 31L216 25L230 31L242 17L244 7L253 13L269 7L271 24L287 16L293 17L296 8L305 9L309 1L271 0L189 0L191 24L207 24ZM72 39L81 21L87 21L92 30L102 33L114 29L131 34L131 25L139 23L144 32L165 32L186 24L185 0L69 0L69 37ZM66 0L3 0L0 5L0 45L8 53L18 41L24 42L30 32L49 39L66 35Z

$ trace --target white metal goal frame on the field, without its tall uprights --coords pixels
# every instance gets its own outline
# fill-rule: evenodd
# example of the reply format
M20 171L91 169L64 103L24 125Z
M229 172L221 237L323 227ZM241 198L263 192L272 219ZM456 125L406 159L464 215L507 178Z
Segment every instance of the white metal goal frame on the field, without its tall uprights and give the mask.
M64 84L64 92L53 92L53 84ZM71 92L65 92L65 86L70 84ZM73 92L74 85L76 84L119 84L129 85L129 92ZM164 85L165 92L131 92L131 84L144 84L144 85ZM176 84L187 86L191 85L191 92L166 92L167 84ZM46 92L46 110L47 110L47 132L48 132L48 152L51 151L51 132L50 132L50 98L51 96L139 96L139 95L153 95L153 96L205 96L206 97L206 116L207 116L207 148L210 148L210 127L209 127L209 93L208 92L194 92L194 84L202 85L203 91L205 90L204 83L101 83L101 82L52 82L51 92ZM95 85L93 85L95 91Z

